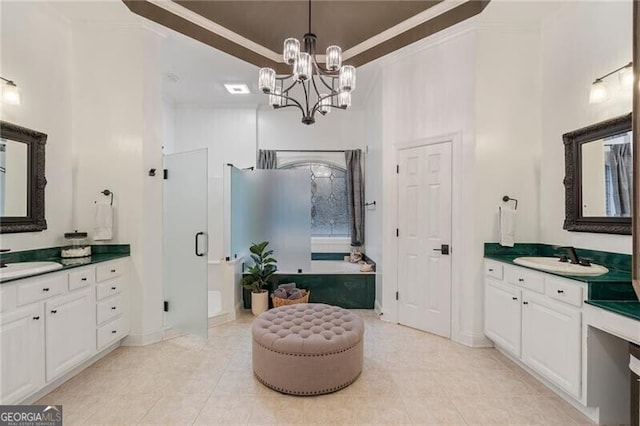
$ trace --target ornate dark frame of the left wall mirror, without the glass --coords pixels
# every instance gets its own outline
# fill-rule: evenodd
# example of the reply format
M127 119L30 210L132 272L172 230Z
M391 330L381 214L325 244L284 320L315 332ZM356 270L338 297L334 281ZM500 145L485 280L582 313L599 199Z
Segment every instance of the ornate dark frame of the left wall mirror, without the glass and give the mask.
M16 124L0 121L0 136L27 144L27 215L0 217L0 234L47 229L44 217L44 146L47 135Z

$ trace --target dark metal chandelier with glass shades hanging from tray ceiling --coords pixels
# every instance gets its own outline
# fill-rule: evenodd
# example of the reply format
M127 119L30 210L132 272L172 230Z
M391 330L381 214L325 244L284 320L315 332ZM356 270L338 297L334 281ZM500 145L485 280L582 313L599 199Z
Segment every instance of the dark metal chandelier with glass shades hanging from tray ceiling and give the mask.
M342 65L342 49L327 47L325 66L316 58L316 35L311 32L311 0L309 0L309 31L303 37L302 50L295 38L284 41L284 62L292 66L288 75L276 75L273 68L261 68L258 87L269 95L274 109L296 107L304 124L315 123L315 114L326 115L332 108L351 106L351 91L356 88L356 69ZM300 87L304 99L297 100L292 89Z

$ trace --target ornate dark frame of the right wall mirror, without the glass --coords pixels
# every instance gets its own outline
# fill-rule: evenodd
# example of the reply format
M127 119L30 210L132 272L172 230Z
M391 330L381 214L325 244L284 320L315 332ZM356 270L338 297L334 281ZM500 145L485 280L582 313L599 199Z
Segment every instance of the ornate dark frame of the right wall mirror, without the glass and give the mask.
M629 130L631 130L631 114L626 114L562 135L565 164L563 228L567 231L631 235L630 217L582 216L582 150L580 149L584 143ZM634 152L633 155L635 156L636 153Z

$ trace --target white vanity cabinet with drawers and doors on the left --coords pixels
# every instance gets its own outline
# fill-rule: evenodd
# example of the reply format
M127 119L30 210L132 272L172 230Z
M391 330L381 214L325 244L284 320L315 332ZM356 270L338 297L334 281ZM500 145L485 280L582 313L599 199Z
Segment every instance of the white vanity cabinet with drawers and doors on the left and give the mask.
M29 402L128 334L127 263L0 284L0 405Z

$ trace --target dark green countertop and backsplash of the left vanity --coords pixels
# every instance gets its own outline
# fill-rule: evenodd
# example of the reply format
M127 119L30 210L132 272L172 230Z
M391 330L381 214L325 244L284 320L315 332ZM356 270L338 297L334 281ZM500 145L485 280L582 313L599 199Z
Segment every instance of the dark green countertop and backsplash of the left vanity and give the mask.
M60 272L67 269L73 269L80 266L92 265L101 262L107 262L109 260L120 259L122 257L128 257L131 254L131 248L129 244L96 244L91 246L91 256L78 257L71 259L63 259L60 257L60 251L62 247L49 247L36 250L14 251L0 254L0 261L4 263L19 263L19 262L41 262L50 261L57 262L62 265L62 269L55 271L44 272L42 274L29 275L29 277L20 277L14 279L8 279L0 282L0 285L6 284L12 281L20 280L23 278L31 278L38 275L49 274L51 272Z

